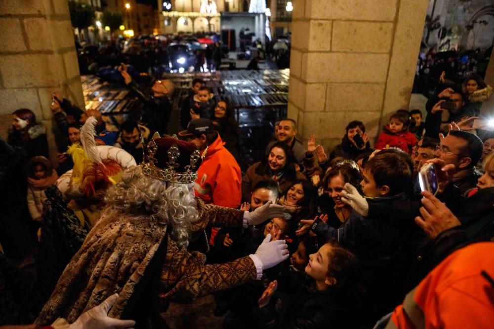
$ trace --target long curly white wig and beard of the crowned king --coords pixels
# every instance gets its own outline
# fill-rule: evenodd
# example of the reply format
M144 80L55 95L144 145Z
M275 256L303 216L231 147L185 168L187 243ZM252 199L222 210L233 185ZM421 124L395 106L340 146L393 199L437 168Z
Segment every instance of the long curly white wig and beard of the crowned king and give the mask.
M141 166L126 169L122 181L108 189L105 202L123 213L150 215L171 225L170 236L179 246L188 246L191 224L199 219L196 200L186 184L148 177Z

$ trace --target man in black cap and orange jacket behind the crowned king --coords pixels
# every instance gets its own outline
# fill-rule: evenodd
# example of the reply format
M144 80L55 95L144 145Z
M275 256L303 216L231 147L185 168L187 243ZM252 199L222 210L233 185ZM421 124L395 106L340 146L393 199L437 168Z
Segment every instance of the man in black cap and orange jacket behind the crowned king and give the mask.
M237 208L242 199L242 173L233 155L224 147L219 134L209 119L194 119L187 130L178 133L188 142L196 144L201 156L206 156L198 169L194 183L196 196L206 204ZM209 243L214 245L217 230L211 230Z

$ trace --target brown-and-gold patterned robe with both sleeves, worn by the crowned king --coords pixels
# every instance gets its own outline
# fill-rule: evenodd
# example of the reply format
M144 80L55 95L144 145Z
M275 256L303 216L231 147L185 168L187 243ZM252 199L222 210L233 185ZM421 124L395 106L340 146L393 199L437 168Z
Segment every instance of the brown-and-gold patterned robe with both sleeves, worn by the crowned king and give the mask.
M199 220L193 224L193 231L204 229L208 223L213 226L243 224L243 211L196 200ZM256 279L256 267L250 257L206 265L205 255L179 248L169 237L164 240L166 228L150 216L122 214L107 207L65 268L35 325L48 326L59 317L72 323L115 292L119 298L108 315L125 317L126 307L131 307L136 292L141 292L153 275L150 268L161 270L159 287L154 291L158 300L165 302L189 302L195 297Z

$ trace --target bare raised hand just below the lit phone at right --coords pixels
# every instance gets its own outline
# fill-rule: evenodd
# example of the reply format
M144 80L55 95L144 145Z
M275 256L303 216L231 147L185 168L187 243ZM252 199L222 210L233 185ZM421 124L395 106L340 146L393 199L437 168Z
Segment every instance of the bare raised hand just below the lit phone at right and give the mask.
M456 216L453 215L451 210L446 207L438 198L428 191L422 192L422 205L420 208L420 215L415 217L415 223L427 233L427 235L434 239L441 232L461 225Z

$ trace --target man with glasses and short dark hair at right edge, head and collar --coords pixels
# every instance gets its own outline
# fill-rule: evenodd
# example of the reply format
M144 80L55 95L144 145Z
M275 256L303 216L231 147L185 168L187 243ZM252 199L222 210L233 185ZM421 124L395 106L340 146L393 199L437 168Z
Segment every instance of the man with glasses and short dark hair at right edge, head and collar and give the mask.
M475 165L482 156L482 152L483 144L480 138L461 130L450 131L437 148L437 156L445 164L454 165L456 172L453 175L453 184L465 196L475 188L481 176L475 170Z

